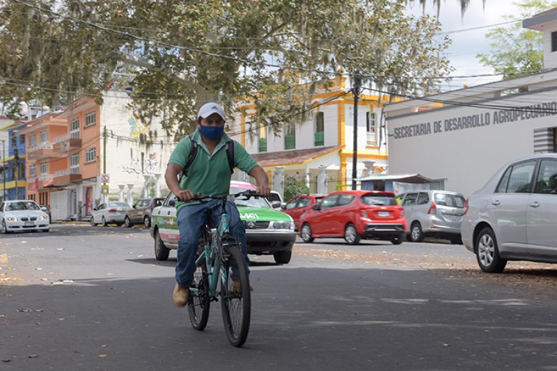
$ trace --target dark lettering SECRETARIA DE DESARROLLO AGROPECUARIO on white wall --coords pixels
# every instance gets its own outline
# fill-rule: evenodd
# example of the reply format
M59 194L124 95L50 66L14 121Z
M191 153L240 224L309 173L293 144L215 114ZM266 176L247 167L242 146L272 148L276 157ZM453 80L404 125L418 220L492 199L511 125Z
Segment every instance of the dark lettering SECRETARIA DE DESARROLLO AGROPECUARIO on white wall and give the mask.
M468 116L457 116L444 120L419 123L395 127L393 139L411 138L442 132L453 132L455 130L471 129L489 125L515 123L521 120L531 120L545 116L557 115L557 102L547 102L523 106L517 109L501 109L485 113L476 113Z

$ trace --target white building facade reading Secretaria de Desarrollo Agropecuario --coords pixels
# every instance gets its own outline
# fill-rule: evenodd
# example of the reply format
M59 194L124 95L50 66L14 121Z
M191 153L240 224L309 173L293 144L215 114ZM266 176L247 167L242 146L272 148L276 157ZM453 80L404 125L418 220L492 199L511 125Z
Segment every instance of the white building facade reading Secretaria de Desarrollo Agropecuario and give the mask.
M385 107L389 173L421 173L469 196L512 159L556 152L557 9L525 19L544 32L544 70Z

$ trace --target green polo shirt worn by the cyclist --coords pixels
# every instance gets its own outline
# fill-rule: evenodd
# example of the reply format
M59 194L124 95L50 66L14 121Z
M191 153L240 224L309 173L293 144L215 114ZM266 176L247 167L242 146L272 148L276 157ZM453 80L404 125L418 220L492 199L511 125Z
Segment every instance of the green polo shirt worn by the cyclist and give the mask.
M240 170L249 173L254 167L257 166L256 161L251 158L249 153L237 141L230 139L226 133L223 134L217 147L211 155L205 143L201 139L199 129L194 133L194 141L198 143L197 155L194 162L191 163L187 171L187 176L182 177L180 182L181 189L189 189L194 194L210 194L213 196L224 196L228 194L230 189L230 166L228 166L228 157L226 155L226 142L232 141L234 145L234 166ZM168 164L178 164L184 167L189 151L191 142L189 136L182 139L176 148L174 148ZM186 203L177 200L176 208Z

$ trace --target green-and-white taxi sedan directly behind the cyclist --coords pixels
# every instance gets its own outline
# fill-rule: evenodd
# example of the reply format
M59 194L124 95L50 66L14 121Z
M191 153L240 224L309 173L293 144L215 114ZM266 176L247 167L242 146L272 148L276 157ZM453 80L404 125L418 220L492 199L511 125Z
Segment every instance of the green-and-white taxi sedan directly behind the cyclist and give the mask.
M230 194L246 189L256 190L246 182L230 182ZM176 221L175 197L168 194L161 206L152 211L151 237L155 239L155 258L167 260L171 249L178 248L180 231ZM235 200L240 219L246 225L248 253L273 255L279 264L288 264L292 257L292 246L296 241L292 218L274 210L265 198L237 198Z

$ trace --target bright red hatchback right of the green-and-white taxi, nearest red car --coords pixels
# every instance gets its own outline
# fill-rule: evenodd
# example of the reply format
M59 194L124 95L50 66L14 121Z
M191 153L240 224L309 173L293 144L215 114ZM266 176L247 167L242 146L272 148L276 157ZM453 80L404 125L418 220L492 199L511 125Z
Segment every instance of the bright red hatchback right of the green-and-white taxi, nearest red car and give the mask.
M405 212L395 194L382 191L338 191L323 198L301 216L301 239L344 237L347 244L360 239L386 239L402 243Z

